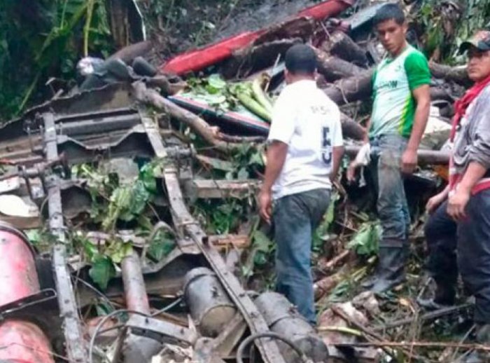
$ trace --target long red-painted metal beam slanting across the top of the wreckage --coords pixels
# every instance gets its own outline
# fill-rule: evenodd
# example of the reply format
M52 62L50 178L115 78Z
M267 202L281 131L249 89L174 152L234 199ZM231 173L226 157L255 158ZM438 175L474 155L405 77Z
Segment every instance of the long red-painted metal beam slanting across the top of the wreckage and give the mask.
M335 16L353 4L353 0L329 0L300 11L293 18L309 16L322 20ZM177 55L164 64L161 69L167 73L185 74L190 71L200 71L206 67L231 57L235 50L251 45L255 39L265 33L266 29L257 32L244 32L224 39L210 46Z

